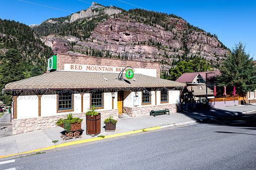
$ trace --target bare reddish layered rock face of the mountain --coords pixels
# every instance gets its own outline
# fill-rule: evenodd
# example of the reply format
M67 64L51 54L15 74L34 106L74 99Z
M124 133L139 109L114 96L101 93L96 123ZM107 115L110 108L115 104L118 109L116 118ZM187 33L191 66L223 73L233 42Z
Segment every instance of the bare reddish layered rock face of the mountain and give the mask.
M186 31L182 26L177 27ZM74 50L85 51L91 48L110 51L113 56L120 54L133 60L172 62L173 56L181 56L184 53L183 50L179 50L184 48L182 35L177 36L178 40L174 40L174 37L172 32L164 31L160 26L152 27L136 23L134 20L127 22L123 19L109 19L95 28L90 39L77 42ZM161 48L148 45L149 41L160 43ZM218 46L219 41L216 38L208 37L203 32L192 32L187 35L188 56L201 55L207 60L216 60L215 56L222 58L228 52ZM166 55L171 59L167 59Z

